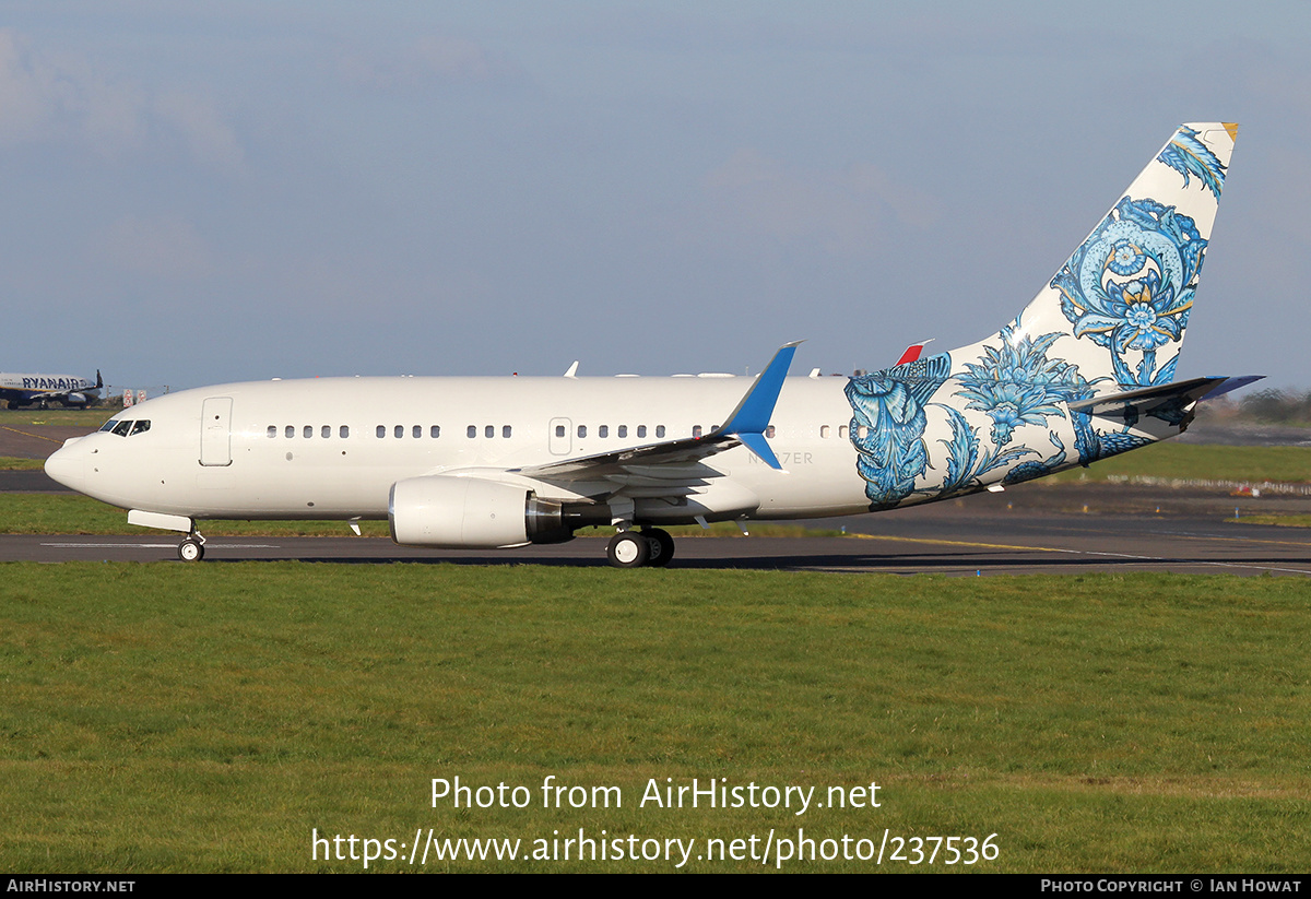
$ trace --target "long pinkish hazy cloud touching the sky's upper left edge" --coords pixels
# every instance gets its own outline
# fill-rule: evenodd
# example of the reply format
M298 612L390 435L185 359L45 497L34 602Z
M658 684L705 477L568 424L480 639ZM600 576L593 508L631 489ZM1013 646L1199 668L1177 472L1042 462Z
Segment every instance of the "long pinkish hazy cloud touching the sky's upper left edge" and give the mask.
M202 166L231 173L243 161L235 132L212 104L106 77L85 59L52 58L13 29L0 29L0 147L73 143L121 157L169 135L181 138Z

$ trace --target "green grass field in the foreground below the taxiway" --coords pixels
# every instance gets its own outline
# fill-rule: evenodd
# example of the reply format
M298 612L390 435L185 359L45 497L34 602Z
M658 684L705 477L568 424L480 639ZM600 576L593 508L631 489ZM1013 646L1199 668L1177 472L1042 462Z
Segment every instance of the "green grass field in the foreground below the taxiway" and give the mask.
M1283 578L4 565L0 868L362 869L316 862L316 830L750 853L804 828L817 852L995 833L969 870L1306 871L1308 599ZM433 807L456 776L531 801ZM548 776L623 806L544 809ZM877 782L881 805L638 806L694 777L821 802Z

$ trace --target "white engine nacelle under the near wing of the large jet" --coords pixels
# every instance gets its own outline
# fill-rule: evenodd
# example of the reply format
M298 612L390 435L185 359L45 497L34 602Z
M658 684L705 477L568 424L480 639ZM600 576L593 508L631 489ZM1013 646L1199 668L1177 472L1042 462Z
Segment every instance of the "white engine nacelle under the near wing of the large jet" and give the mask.
M479 477L429 474L397 481L387 518L392 540L404 546L502 549L573 536L558 502Z

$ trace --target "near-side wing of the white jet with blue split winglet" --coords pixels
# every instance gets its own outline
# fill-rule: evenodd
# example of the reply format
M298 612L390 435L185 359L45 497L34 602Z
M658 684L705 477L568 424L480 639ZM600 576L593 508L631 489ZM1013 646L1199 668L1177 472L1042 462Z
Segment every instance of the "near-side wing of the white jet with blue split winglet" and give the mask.
M713 469L699 463L703 459L745 446L760 460L773 469L781 469L777 456L764 439L764 430L773 415L773 406L783 389L783 381L792 364L797 345L801 341L785 343L773 354L773 359L756 377L755 384L747 389L737 408L728 417L728 423L721 425L709 434L699 438L680 438L661 443L648 443L611 452L595 453L591 456L578 456L541 465L526 465L510 469L510 474L549 481L556 484L570 484L577 481L617 481L620 484L652 481L659 484L683 482L713 477Z

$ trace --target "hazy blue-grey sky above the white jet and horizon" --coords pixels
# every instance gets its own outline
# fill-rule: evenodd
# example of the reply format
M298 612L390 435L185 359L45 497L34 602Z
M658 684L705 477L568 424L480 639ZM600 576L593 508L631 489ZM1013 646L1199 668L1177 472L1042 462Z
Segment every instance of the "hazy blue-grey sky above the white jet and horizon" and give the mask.
M1179 376L1311 387L1311 0L0 1L0 371L850 373L1240 126Z

